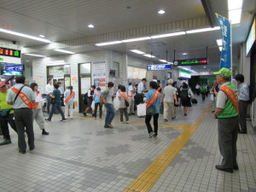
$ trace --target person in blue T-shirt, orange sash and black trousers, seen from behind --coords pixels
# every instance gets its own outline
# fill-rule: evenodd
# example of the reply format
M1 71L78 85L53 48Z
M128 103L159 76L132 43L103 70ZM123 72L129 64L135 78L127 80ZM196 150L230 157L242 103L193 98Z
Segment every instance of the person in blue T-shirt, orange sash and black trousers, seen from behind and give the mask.
M160 92L157 89L157 84L154 81L149 83L150 90L146 96L147 109L146 109L146 119L145 124L148 128L149 138L156 138L158 135L158 118L160 113ZM150 125L150 120L154 119L154 131Z

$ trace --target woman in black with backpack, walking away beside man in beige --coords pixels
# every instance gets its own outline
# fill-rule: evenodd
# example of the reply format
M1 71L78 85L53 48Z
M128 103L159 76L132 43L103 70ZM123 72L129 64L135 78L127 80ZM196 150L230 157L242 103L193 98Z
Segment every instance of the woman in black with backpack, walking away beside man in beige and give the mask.
M184 116L187 116L189 108L191 105L191 98L194 97L192 90L189 88L189 85L183 83L181 90L181 102L184 108Z

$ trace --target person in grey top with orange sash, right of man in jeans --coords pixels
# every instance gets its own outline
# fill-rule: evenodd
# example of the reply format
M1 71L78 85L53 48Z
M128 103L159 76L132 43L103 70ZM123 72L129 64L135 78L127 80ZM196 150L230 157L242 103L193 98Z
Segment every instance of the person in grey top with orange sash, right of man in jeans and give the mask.
M125 119L126 119L126 124L129 124L129 116L127 113L127 107L125 105L125 100L127 101L128 97L127 97L127 93L125 92L125 86L122 85L120 87L120 91L119 91L119 112L120 112L120 122L123 122L123 113L125 113Z

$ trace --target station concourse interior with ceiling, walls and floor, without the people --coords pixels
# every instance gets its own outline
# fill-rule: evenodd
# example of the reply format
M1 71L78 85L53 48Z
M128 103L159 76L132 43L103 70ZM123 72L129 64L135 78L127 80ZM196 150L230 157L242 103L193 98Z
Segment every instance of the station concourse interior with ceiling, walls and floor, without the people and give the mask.
M218 18L230 22L230 45ZM0 0L1 82L11 87L24 75L28 85L38 84L49 133L34 122L35 148L22 154L9 125L11 143L0 146L0 192L256 192L255 101L247 107L247 134L237 137L239 170L215 167L223 156L210 90L229 48L231 84L238 91L235 77L242 74L255 92L256 1ZM45 112L49 79L75 93L73 116L63 122ZM104 91L113 82L114 93L119 84L127 92L142 79L147 90L151 81L162 90L169 79L189 84L197 103L188 113L177 103L168 119L161 107L158 135L150 138L138 107L125 124L114 106L113 128L106 127L105 107L101 119L84 113L92 85ZM205 101L196 84L209 87Z

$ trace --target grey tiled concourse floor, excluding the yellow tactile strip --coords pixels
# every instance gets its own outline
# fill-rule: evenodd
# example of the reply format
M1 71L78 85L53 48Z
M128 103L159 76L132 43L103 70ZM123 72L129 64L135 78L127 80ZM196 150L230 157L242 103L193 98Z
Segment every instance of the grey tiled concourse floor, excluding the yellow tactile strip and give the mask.
M144 119L131 117L131 124L123 125L116 117L108 130L103 120L77 114L72 121L56 117L47 123L49 136L35 125L36 149L19 154L12 131L13 143L0 148L0 192L124 191L182 134L177 125L192 124L209 103L194 106L187 117L178 108L177 119L167 123L160 115L157 139L148 138ZM217 124L207 113L150 191L256 191L256 134L251 126L248 131L238 138L239 172L218 172Z

